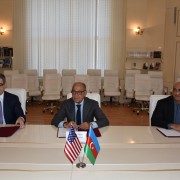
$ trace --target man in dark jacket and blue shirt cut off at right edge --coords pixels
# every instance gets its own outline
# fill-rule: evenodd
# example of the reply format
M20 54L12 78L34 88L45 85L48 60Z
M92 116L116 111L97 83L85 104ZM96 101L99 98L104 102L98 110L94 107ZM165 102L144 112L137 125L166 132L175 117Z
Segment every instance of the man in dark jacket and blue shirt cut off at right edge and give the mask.
M180 82L174 84L172 96L157 102L151 125L180 130Z

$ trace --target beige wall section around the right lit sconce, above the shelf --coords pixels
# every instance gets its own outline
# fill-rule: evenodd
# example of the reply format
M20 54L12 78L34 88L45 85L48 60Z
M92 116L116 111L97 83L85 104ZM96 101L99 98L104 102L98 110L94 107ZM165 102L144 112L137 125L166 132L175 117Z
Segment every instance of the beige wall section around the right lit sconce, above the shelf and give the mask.
M166 0L127 0L126 49L162 50ZM135 35L133 29L140 26L143 35Z

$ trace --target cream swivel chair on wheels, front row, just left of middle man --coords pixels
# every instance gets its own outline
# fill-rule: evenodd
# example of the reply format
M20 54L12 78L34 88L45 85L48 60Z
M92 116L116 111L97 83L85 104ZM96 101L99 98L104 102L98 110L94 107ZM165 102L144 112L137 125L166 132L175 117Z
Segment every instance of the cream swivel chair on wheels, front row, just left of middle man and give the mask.
M44 89L42 100L47 103L43 112L50 111L53 114L54 109L59 109L61 99L61 75L59 73L46 74L44 77Z

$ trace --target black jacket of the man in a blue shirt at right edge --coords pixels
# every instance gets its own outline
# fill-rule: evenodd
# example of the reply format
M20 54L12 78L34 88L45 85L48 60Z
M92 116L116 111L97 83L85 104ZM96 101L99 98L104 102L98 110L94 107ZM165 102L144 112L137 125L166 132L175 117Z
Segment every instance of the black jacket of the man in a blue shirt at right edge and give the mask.
M174 99L173 96L161 99L157 102L151 118L151 125L168 128L168 124L174 123Z

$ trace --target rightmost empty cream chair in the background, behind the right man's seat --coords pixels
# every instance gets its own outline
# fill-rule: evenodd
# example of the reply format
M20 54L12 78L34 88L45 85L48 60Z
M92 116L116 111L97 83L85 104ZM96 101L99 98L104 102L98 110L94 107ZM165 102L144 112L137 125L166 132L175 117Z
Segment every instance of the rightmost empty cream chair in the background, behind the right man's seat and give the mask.
M148 71L151 81L151 88L153 94L166 94L163 85L163 72L162 71Z

